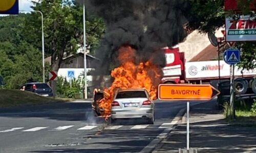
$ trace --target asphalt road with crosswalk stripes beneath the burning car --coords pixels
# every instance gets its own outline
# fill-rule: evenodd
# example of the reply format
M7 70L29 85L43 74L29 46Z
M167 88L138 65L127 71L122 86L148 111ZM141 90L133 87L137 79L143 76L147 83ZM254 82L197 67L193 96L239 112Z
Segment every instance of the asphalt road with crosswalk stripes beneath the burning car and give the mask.
M155 102L155 123L94 117L90 103L0 109L0 152L139 152L157 138L185 102Z

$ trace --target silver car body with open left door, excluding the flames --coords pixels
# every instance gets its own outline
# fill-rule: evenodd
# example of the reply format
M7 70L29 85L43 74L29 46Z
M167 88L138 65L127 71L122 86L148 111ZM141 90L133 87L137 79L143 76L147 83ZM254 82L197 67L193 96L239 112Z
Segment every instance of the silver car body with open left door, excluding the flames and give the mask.
M97 92L94 96L93 108L95 115L104 112L98 107L97 101L102 99L104 92ZM146 89L117 90L112 101L111 119L142 118L150 124L155 121L155 104Z

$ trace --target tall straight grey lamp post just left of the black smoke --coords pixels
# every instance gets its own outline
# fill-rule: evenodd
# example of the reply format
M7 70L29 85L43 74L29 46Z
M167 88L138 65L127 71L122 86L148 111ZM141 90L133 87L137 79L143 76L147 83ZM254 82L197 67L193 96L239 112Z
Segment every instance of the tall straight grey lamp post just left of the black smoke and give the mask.
M86 4L83 0L84 98L87 99Z

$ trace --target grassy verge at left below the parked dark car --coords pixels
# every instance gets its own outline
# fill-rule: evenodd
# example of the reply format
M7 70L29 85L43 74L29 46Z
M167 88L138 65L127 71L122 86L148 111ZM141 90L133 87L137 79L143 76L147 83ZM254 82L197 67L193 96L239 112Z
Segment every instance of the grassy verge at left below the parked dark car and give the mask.
M27 91L0 89L0 108L22 105L47 104L65 101L68 100L43 97Z

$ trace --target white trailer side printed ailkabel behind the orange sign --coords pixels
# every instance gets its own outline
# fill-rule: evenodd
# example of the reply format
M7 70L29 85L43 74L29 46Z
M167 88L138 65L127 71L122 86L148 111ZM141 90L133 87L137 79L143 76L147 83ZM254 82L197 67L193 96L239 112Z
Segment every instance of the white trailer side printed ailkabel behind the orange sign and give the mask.
M256 69L243 70L237 66L234 68L234 75L236 76L255 76ZM229 78L230 65L226 64L223 60L220 61L220 74L222 78ZM202 62L186 62L186 79L199 80L219 77L218 61L202 61Z

